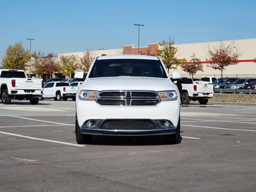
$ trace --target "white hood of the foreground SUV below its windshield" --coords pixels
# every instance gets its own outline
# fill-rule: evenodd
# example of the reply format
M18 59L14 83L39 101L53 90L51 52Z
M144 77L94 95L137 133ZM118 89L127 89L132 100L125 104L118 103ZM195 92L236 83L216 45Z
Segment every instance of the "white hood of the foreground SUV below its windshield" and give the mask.
M91 78L82 84L84 90L174 90L171 80L152 77L101 77Z

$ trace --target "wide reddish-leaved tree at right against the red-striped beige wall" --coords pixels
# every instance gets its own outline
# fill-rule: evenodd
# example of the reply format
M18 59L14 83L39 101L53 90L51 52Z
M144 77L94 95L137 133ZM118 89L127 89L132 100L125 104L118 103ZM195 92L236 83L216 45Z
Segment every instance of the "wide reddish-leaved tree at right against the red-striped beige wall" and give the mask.
M217 46L208 50L209 58L206 58L208 62L207 66L221 71L221 77L223 70L230 65L238 64L238 58L240 53L238 47L234 45L234 42L230 42L227 46L220 42Z

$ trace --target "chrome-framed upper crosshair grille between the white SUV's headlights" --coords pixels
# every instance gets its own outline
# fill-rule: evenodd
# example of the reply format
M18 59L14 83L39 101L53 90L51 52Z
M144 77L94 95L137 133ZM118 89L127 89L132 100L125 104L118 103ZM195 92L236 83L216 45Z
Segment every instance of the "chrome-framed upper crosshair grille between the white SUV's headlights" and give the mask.
M101 106L157 106L160 97L155 91L102 91L96 102Z

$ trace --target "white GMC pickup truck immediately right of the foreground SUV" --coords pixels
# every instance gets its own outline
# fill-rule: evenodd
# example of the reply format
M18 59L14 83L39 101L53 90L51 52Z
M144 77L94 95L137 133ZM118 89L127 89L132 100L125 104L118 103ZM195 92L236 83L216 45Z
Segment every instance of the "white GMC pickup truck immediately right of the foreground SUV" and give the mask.
M189 104L190 100L207 104L208 99L214 96L213 84L194 83L192 78L182 78L174 83L182 84L181 103Z

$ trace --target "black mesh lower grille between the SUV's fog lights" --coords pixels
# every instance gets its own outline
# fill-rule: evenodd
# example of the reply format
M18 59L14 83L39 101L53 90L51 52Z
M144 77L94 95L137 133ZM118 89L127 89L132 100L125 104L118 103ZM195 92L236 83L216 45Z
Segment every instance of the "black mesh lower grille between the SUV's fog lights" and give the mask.
M115 129L123 129L123 130L137 130L137 129L155 129L156 126L154 123L147 119L142 120L134 120L134 119L110 119L106 120L101 126L100 129L107 130L115 130Z

